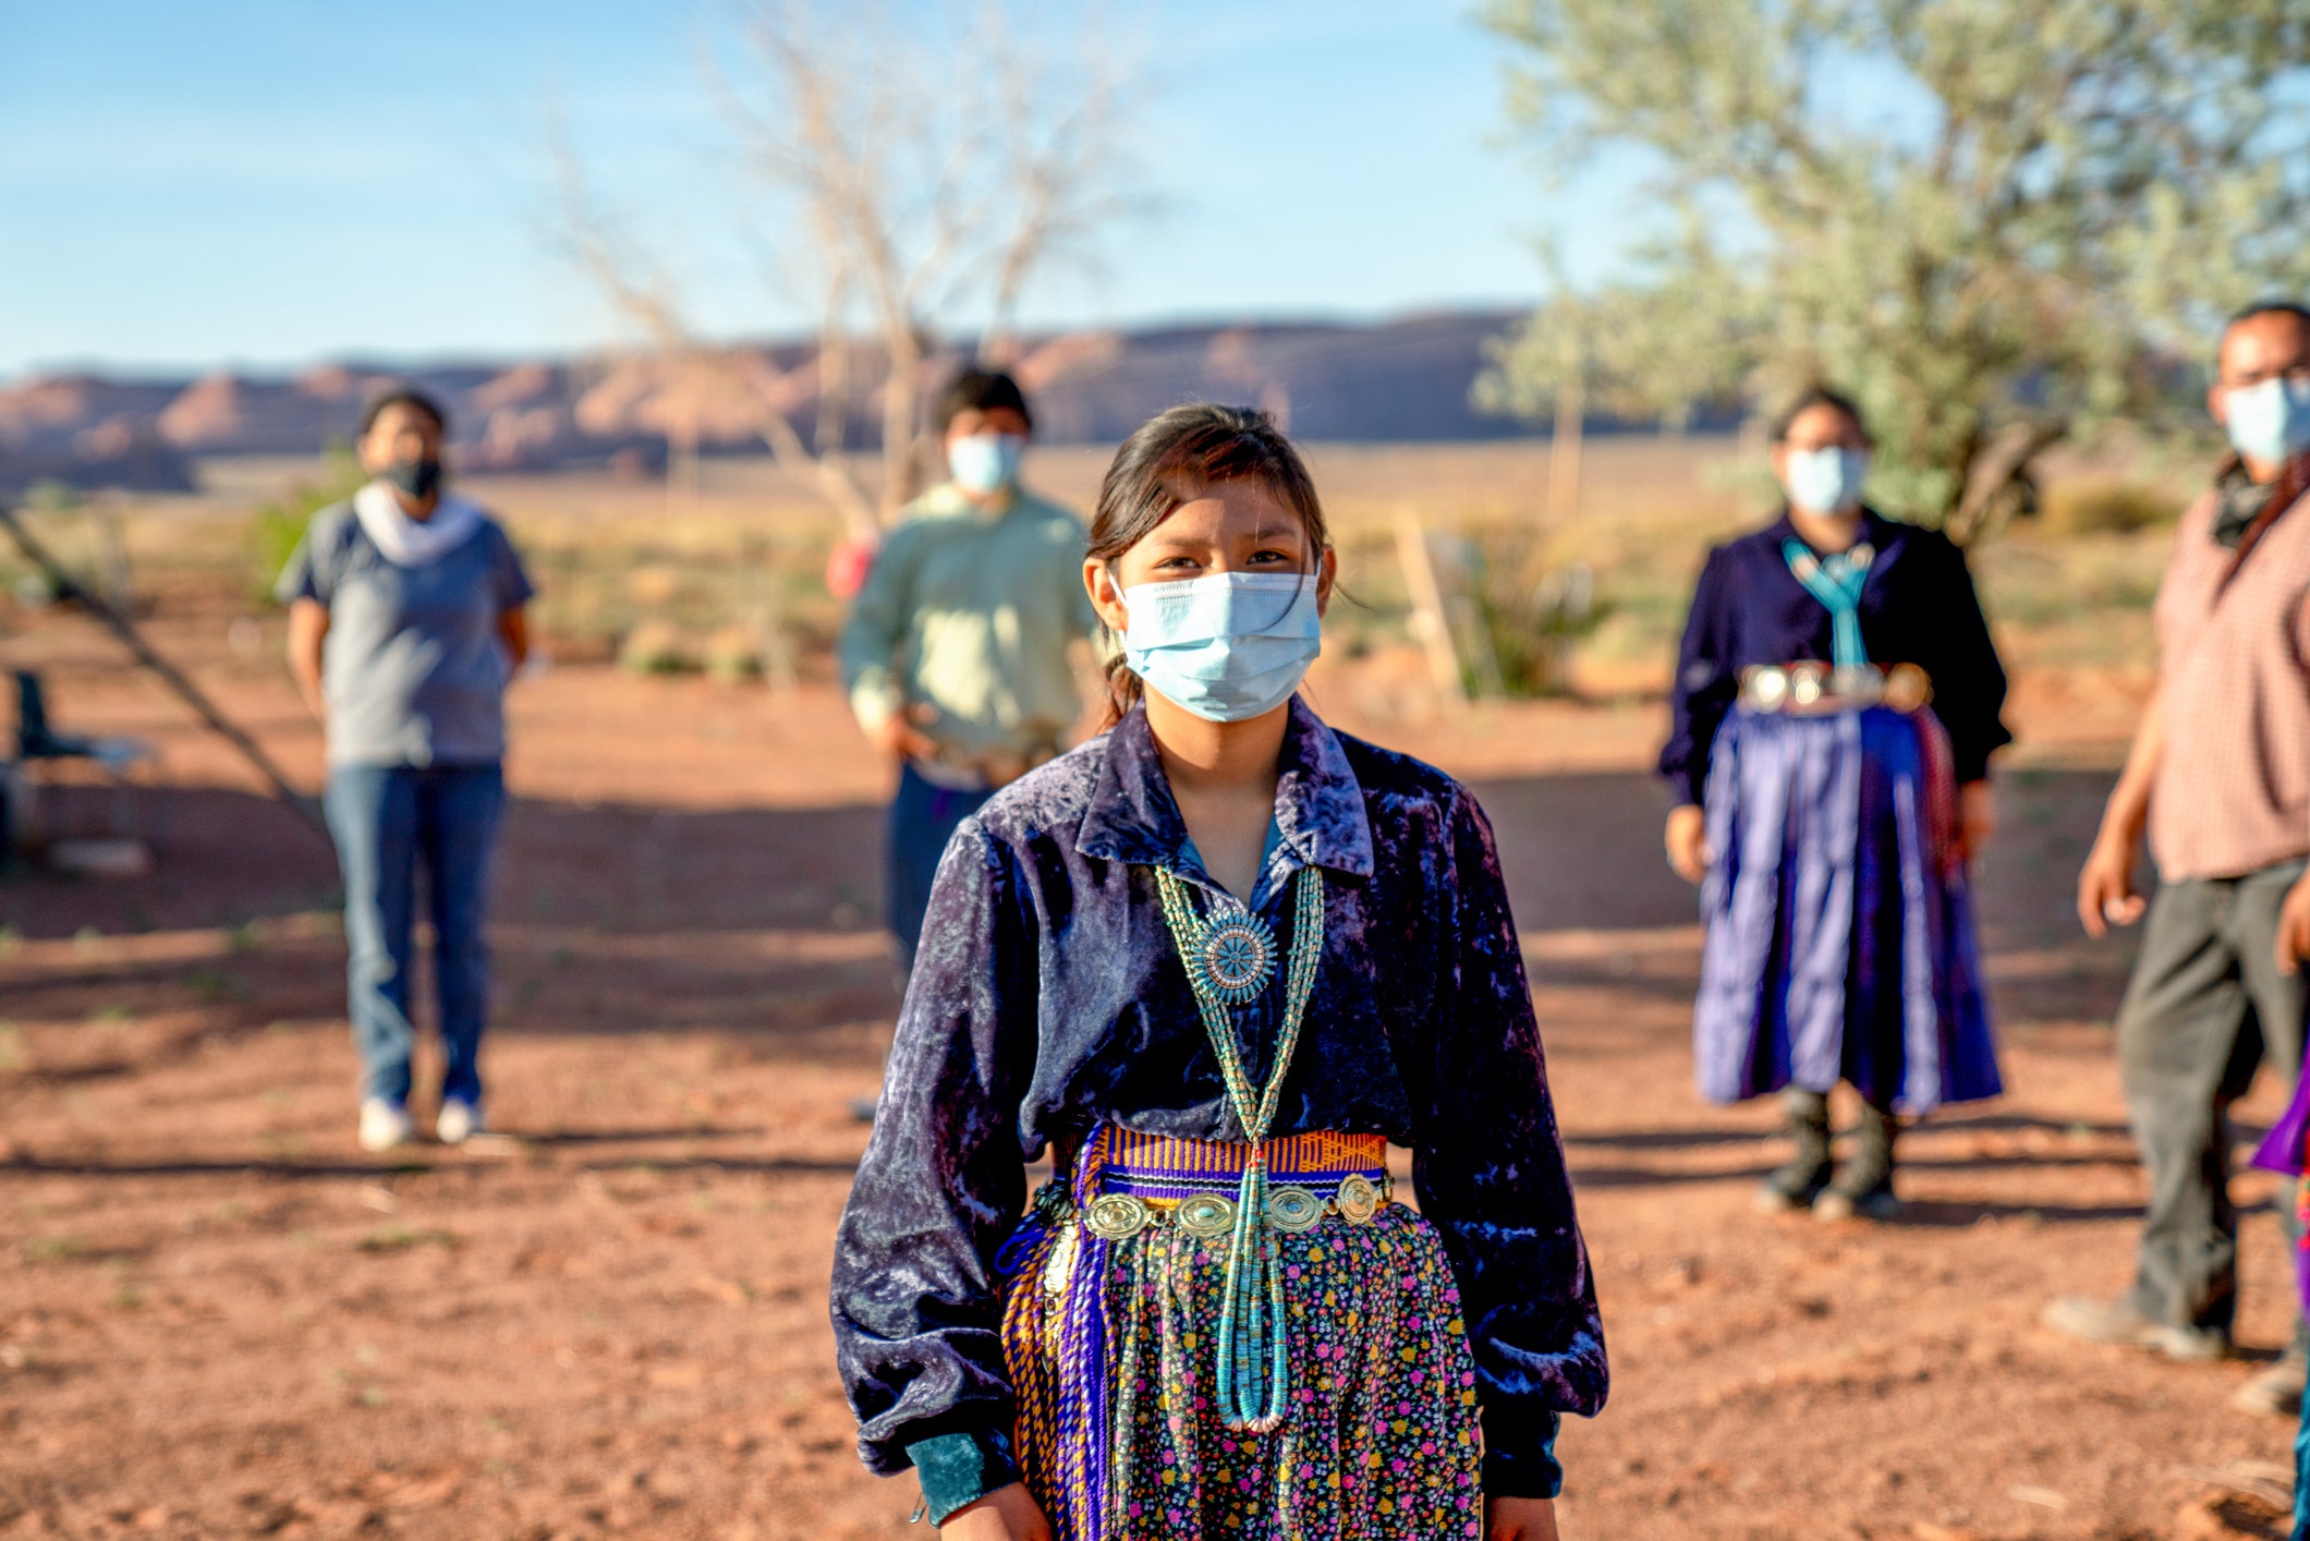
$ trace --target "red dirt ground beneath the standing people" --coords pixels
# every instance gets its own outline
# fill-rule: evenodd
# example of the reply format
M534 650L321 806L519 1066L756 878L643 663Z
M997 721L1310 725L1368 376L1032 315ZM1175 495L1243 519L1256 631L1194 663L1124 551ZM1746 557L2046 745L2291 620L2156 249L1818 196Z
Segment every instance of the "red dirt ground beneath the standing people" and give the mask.
M314 776L277 638L219 633L162 626ZM850 1451L825 1315L845 1107L894 1012L885 772L829 691L520 684L511 1139L372 1160L328 850L85 624L9 661L51 670L67 725L159 739L173 790L152 876L0 883L0 1534L929 1534ZM2123 712L2072 684L2035 682L2019 725L2107 762ZM2012 1093L1906 1141L1901 1222L1767 1222L1772 1109L1691 1093L1656 712L1409 728L1344 709L1354 679L1321 695L1471 776L1502 832L1615 1368L1562 1442L1568 1539L2280 1534L2292 1430L2229 1407L2252 1356L2035 1326L2051 1291L2123 1285L2141 1204L2107 1030L2128 945L2065 920L2102 772L2005 781L1982 887ZM2248 1111L2278 1102L2266 1077ZM2248 1231L2266 1358L2287 1259L2266 1211Z

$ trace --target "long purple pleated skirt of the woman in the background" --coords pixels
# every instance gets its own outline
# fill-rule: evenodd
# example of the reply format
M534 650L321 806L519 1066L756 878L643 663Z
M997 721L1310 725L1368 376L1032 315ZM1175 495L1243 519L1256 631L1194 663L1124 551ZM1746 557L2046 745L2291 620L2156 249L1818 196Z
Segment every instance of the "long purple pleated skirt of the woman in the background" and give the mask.
M1850 1081L1924 1114L2005 1088L1952 820L1947 742L1924 712L1726 719L1700 885L1700 1095Z

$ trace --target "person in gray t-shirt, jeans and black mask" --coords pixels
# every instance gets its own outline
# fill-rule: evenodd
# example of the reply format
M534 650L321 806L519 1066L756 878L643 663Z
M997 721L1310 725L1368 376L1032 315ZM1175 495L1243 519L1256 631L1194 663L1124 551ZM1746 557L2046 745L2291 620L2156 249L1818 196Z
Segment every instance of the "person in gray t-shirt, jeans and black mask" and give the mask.
M282 571L289 668L328 732L328 827L344 871L360 1144L388 1151L409 1118L409 968L423 864L441 996L441 1114L480 1130L483 940L490 853L506 802L506 682L529 652L529 575L497 520L441 490L441 409L377 400L360 425L374 476L312 518Z

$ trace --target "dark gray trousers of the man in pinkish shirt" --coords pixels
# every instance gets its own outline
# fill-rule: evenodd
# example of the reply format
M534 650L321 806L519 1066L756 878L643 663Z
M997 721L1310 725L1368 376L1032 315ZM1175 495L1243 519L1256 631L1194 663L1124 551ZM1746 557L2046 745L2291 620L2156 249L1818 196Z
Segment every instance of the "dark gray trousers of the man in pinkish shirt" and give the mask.
M2301 873L2292 859L2243 878L2183 878L2151 901L2118 1007L2118 1065L2151 1178L2130 1298L2155 1322L2227 1333L2238 1315L2229 1104L2264 1056L2287 1086L2301 1070L2303 977L2278 973L2271 956L2278 908ZM2292 1201L2278 1204L2278 1220L2292 1243Z

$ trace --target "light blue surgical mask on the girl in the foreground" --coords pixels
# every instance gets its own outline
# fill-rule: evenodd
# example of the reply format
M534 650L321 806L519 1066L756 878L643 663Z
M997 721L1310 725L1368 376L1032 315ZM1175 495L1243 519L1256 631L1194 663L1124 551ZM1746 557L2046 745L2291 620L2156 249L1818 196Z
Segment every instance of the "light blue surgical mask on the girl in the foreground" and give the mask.
M1123 591L1123 661L1150 691L1210 723L1291 700L1324 652L1312 573L1213 573Z

